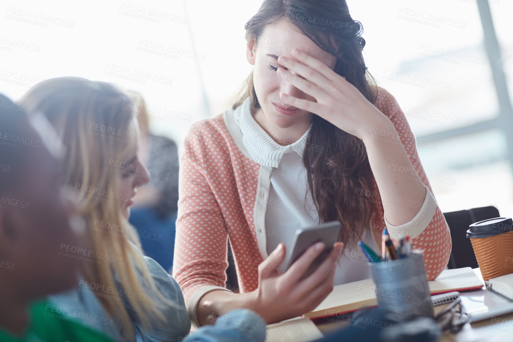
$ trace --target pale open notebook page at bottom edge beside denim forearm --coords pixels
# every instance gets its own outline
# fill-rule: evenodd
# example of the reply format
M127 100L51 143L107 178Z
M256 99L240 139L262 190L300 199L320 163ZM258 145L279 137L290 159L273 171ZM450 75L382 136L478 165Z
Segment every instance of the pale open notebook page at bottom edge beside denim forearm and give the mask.
M265 342L309 342L324 337L309 318L292 318L270 324L265 331Z

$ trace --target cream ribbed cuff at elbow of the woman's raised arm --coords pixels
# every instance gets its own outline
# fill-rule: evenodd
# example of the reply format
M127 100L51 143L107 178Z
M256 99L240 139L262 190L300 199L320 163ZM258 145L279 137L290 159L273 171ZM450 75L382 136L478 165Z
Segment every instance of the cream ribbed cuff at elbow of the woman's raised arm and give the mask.
M424 185L425 186L425 185ZM388 223L385 217L385 224L388 230L388 234L394 240L399 240L402 236L409 235L410 239L415 239L419 235L424 232L427 228L433 216L435 216L435 212L437 210L437 201L435 196L431 194L429 188L426 188L426 198L424 199L424 203L420 208L419 212L415 217L411 219L411 221L401 224L401 225L391 225Z

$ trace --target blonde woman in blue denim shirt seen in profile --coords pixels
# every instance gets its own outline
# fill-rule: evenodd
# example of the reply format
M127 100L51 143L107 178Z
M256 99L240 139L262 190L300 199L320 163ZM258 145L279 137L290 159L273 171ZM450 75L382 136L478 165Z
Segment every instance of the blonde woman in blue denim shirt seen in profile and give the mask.
M63 258L83 261L82 278L77 289L53 296L51 309L115 340L183 340L190 320L180 287L143 255L140 238L145 237L127 221L130 206L139 201L137 187L149 180L139 145L153 143L152 138L140 134L128 93L81 78L50 81L58 87L37 84L20 104L28 112L43 112L67 147L63 174L78 197L90 245L61 244ZM194 339L264 340L260 316L249 310L230 315L252 324L236 329L234 322L241 319L218 319L216 327L196 332Z

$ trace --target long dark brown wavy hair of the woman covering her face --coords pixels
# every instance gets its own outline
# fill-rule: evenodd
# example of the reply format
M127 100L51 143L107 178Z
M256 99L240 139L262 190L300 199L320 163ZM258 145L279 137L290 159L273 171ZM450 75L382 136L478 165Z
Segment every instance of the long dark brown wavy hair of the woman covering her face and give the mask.
M317 20L312 18L317 17ZM265 26L285 18L321 49L337 57L334 71L356 86L374 103L378 87L363 58L363 26L352 19L345 0L264 0L257 14L246 23L246 41L258 42ZM315 22L315 25L313 24ZM251 112L260 109L253 86L253 72L244 82L233 105L251 98ZM339 241L353 245L377 212L374 176L363 141L313 116L312 129L303 153L311 193L320 222L342 222ZM319 146L320 148L309 148ZM306 194L305 194L306 198Z

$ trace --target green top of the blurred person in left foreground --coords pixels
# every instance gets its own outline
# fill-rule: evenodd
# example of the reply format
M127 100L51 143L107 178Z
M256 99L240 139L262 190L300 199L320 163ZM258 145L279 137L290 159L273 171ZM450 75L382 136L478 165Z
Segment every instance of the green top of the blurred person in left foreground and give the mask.
M39 300L30 307L30 326L21 337L0 328L0 342L112 342L100 332L74 322L51 309L51 305Z

